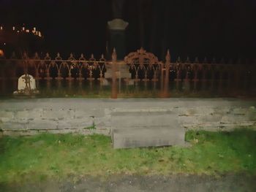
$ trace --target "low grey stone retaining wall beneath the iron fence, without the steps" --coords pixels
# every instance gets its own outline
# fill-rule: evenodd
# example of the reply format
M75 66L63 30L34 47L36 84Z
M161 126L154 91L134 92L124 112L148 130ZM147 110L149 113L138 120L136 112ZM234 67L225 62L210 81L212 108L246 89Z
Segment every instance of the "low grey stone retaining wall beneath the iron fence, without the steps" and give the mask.
M0 129L1 134L7 135L42 132L109 135L110 128L116 126L112 125L113 115L140 112L171 115L170 118L177 118L188 129L256 127L255 99L2 99ZM143 123L140 115L132 117L122 118L123 123L118 126L128 129L136 120ZM155 118L154 124L162 125L162 120ZM89 129L91 126L96 129Z

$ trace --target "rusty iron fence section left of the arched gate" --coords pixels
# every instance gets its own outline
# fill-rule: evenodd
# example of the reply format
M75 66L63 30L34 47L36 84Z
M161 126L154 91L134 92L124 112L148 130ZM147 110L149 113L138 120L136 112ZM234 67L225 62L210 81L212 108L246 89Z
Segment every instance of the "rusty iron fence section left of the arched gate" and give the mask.
M106 61L102 55L98 61L91 55L89 60L81 54L80 58L75 59L72 54L69 58L63 59L58 53L55 58L50 58L47 53L44 58L39 58L36 53L33 58L23 55L23 58L0 59L1 78L18 78L21 74L28 72L36 80L91 80L104 78L106 72ZM6 75L6 73L8 75Z

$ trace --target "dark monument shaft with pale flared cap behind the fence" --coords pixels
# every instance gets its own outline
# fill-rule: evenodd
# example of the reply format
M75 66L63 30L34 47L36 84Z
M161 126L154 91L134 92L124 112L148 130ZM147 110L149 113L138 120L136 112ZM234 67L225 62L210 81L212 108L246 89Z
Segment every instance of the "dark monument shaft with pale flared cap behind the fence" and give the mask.
M109 44L108 50L112 53L113 48L116 48L118 60L124 59L126 55L126 45L125 45L125 29L129 23L122 19L113 19L108 21L108 31L109 31Z

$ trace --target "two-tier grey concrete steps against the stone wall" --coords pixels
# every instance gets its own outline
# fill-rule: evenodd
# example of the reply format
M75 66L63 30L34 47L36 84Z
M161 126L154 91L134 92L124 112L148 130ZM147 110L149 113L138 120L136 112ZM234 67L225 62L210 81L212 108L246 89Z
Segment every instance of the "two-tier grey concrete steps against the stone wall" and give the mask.
M170 110L116 111L111 114L114 148L185 145L185 130Z

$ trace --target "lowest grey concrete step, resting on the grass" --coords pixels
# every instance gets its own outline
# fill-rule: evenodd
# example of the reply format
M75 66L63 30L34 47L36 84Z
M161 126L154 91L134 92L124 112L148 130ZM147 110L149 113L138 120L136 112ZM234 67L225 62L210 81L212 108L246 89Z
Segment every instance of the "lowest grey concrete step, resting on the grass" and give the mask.
M185 146L185 130L181 127L156 126L113 128L113 148Z

